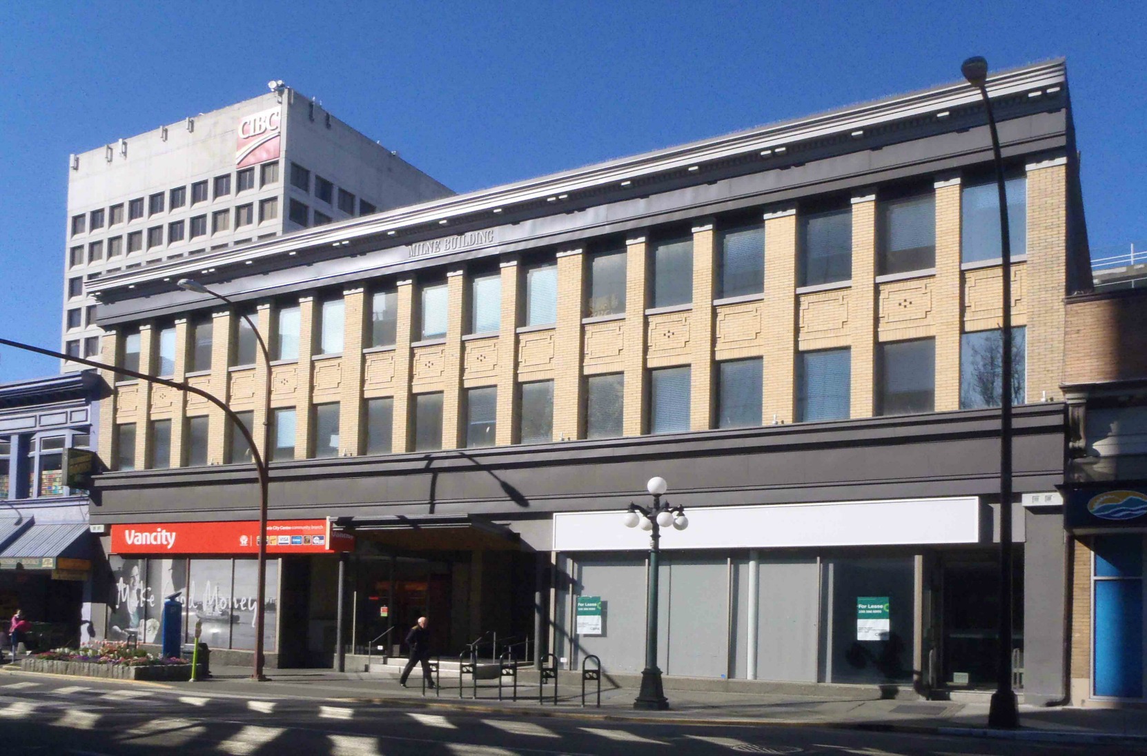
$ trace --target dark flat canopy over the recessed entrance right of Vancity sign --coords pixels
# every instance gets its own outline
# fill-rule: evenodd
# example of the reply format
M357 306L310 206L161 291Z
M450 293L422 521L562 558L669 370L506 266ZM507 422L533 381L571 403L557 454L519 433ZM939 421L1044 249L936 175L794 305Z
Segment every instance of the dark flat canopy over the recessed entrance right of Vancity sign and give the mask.
M506 525L471 515L338 517L334 525L360 538L412 551L516 551L521 540Z

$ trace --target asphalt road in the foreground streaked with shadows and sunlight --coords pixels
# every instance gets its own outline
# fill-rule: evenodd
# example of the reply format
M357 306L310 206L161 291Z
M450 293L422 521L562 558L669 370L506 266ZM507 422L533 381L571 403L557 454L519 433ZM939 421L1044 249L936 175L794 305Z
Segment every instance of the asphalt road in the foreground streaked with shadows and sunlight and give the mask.
M77 678L0 678L0 753L547 756L817 754L1106 756L1147 753L804 726L682 726L489 715L338 700L205 694Z

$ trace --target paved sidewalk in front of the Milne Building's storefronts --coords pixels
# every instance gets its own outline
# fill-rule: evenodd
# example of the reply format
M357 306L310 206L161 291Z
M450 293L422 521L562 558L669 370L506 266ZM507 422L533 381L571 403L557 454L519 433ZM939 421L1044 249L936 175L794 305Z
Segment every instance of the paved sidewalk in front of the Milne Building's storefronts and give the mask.
M379 703L420 706L481 714L518 712L529 716L608 719L614 722L695 725L805 725L891 730L924 734L947 734L1016 740L1047 740L1076 743L1126 742L1147 746L1147 717L1134 709L1076 709L1020 707L1021 727L1016 731L988 730L986 703L952 701L888 700L865 691L851 697L840 695L791 695L712 693L703 691L666 691L668 711L638 711L633 700L638 691L612 687L602 683L601 708L594 706L595 688L587 683L586 704L582 708L580 684L559 686L559 703L553 704L553 687L547 685L546 703L538 703L537 673L523 672L518 700L513 702L510 688L502 688L498 700L497 680L479 680L478 697L473 697L471 681L466 680L459 697L458 678L445 678L439 695L421 689L421 678L411 676L409 688L403 688L391 677L365 673L338 673L330 670L268 670L270 681L250 680L250 668L224 667L212 670L212 678L201 683L179 684L201 688L204 693L226 693L250 697L289 696Z

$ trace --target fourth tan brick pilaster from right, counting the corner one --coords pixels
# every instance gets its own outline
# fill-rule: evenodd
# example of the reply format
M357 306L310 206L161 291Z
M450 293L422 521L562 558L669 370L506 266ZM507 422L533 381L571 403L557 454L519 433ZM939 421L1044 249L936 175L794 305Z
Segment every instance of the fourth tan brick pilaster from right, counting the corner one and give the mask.
M793 422L796 360L796 210L765 213L764 387L760 419Z

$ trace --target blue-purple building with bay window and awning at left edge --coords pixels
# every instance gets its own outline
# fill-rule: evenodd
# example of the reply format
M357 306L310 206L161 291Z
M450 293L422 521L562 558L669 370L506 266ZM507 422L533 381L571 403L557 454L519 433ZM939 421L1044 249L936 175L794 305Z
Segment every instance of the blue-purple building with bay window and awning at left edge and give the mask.
M0 383L0 615L24 610L29 649L87 638L92 602L107 603L87 491L65 476L94 450L99 384L92 371Z

